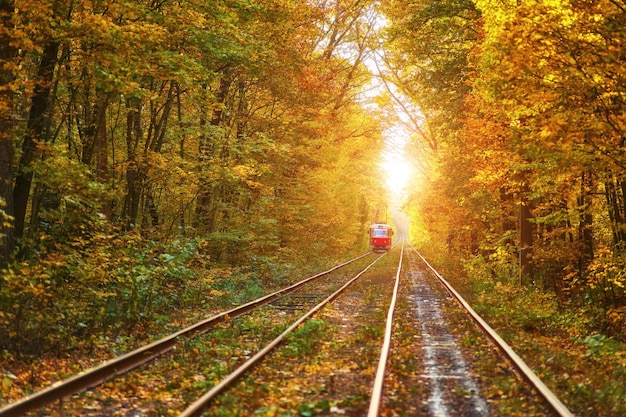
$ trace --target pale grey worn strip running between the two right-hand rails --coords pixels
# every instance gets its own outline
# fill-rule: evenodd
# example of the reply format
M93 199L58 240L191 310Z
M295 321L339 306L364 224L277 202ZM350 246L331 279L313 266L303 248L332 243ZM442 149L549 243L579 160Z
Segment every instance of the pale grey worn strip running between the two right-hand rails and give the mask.
M424 371L420 376L429 390L424 411L434 417L489 416L489 405L480 396L478 385L443 317L444 296L433 291L422 271L411 268L409 274L424 352Z

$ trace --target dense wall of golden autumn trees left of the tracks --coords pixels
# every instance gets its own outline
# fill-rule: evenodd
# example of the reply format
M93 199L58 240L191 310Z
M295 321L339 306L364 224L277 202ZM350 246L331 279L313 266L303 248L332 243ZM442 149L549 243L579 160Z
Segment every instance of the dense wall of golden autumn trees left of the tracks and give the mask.
M2 344L136 322L188 278L177 261L261 274L364 250L383 194L363 105L375 16L361 0L0 1Z

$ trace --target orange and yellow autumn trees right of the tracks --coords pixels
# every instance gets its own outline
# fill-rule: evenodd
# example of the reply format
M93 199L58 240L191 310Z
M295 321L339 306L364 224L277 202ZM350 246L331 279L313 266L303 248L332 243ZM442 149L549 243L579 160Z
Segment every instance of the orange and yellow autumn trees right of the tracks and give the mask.
M593 300L621 332L626 4L383 4L389 76L432 132L415 136L434 168L411 204L433 240Z

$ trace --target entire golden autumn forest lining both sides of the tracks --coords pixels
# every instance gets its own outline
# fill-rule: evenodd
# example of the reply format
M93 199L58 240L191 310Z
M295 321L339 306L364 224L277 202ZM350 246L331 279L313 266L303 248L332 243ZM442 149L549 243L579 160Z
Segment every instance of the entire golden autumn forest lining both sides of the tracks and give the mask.
M626 329L625 11L0 0L0 340L137 317L189 263L262 275L359 248L394 103L433 253Z

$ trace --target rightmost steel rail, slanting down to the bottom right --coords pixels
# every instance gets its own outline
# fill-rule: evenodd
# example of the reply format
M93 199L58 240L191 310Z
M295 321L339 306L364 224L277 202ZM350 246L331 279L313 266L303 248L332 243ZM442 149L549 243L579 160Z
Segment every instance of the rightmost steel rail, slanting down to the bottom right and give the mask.
M424 264L428 267L428 269L435 275L435 277L437 277L437 279L439 279L439 281L441 281L441 283L444 285L444 287L446 287L446 290L454 297L457 299L457 301L463 306L463 308L469 313L469 315L472 317L472 319L474 319L474 321L476 322L476 324L485 332L487 333L487 335L489 335L489 337L491 338L491 340L493 340L493 342L498 346L498 348L504 353L504 355L506 357L509 358L509 360L511 361L511 363L518 369L518 371L522 374L522 376L531 384L535 387L535 389L537 390L537 392L546 400L546 402L550 405L550 407L552 408L552 410L559 416L561 417L573 417L574 415L567 409L567 407L561 402L561 400L559 400L557 398L556 395L554 395L554 393L543 383L543 381L541 379L539 379L539 377L537 376L537 374L535 374L533 372L532 369L530 369L530 367L522 360L522 358L515 353L515 351L511 348L511 346L509 346L508 343L506 343L501 337L500 335L498 335L498 333L495 332L495 330L493 330L491 328L491 326L489 326L489 324L487 324L487 322L485 322L485 320L482 319L482 317L480 317L478 315L478 313L476 313L474 311L474 309L469 305L469 303L467 301L465 301L465 299L461 296L461 294L459 294L453 287L452 285L450 285L448 283L448 281L446 281L436 270L435 268L433 268L428 261L426 261L426 259L422 256L421 253L418 252L417 249L415 249L415 247L413 247L413 245L411 245L409 243L409 245L411 246L411 248L415 251L415 253L417 254L417 256L419 256L421 258L421 260L424 262Z

